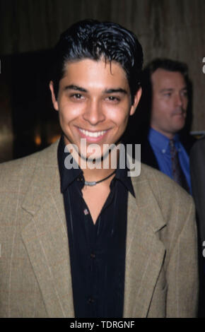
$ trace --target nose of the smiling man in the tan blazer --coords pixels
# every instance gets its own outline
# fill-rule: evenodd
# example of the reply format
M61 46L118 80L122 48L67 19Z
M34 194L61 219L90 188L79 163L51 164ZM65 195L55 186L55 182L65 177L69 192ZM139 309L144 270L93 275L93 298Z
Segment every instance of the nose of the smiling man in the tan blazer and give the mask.
M105 114L102 110L101 102L98 100L90 100L86 105L86 110L83 113L83 119L95 126L99 122L105 120Z

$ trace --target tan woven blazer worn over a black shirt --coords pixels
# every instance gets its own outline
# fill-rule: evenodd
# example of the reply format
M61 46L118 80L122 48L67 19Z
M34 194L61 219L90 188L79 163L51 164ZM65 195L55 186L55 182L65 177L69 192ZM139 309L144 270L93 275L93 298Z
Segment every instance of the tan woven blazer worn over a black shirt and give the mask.
M0 165L1 317L74 317L57 143ZM131 179L136 199L129 194L124 317L193 317L192 198L146 165Z

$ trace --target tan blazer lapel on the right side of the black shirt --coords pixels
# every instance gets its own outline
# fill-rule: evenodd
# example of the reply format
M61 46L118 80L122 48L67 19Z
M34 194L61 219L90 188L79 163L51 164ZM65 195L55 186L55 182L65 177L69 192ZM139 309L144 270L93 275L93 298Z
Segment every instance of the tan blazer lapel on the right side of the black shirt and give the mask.
M136 199L129 193L124 317L146 317L165 256L158 238L163 217L148 181L132 178Z

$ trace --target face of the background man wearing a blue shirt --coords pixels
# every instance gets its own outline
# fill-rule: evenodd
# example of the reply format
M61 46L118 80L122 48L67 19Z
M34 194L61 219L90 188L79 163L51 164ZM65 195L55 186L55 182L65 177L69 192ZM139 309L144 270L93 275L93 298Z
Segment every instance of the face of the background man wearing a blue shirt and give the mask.
M151 76L153 100L151 127L168 138L185 126L187 85L178 71L157 69Z

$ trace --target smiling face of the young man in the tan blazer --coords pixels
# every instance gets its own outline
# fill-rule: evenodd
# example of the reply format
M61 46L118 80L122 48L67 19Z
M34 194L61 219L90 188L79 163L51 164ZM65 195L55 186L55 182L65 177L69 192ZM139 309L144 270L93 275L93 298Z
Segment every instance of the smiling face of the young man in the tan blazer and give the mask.
M59 111L59 121L65 143L74 143L81 151L81 138L100 146L117 143L127 126L129 115L134 114L141 90L131 105L129 83L122 67L116 62L83 59L66 65L59 82L59 95L52 102ZM83 155L88 158L88 153Z

